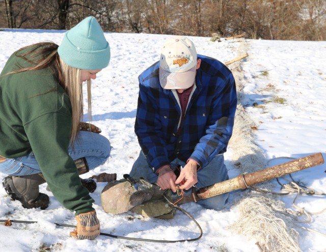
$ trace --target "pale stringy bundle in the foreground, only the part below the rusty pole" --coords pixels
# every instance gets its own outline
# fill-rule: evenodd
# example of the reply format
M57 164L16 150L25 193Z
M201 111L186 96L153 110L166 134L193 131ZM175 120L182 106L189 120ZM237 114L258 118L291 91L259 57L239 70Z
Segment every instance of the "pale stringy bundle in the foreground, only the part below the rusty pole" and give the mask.
M236 207L240 217L230 226L231 231L257 240L261 251L301 251L293 219L286 214L282 201L251 196L242 199Z

